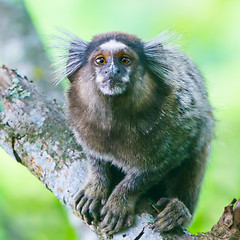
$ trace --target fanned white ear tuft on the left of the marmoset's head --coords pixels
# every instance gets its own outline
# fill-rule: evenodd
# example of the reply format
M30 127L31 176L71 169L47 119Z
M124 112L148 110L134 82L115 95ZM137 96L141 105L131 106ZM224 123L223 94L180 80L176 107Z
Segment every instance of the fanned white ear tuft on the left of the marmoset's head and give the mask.
M55 68L55 84L64 78L71 79L84 62L84 56L88 47L88 42L82 40L74 34L61 31L62 36L57 36L54 48L58 50ZM71 81L71 80L70 80Z

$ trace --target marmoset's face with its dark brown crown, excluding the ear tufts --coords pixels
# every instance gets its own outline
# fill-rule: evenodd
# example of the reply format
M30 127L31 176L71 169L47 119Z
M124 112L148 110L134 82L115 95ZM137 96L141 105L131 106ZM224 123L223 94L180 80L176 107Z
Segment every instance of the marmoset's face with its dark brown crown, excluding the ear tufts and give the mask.
M120 33L96 36L88 44L83 66L90 70L97 89L103 95L123 94L131 79L143 74L144 69L139 62L141 53L137 53L136 47L142 50L140 40Z

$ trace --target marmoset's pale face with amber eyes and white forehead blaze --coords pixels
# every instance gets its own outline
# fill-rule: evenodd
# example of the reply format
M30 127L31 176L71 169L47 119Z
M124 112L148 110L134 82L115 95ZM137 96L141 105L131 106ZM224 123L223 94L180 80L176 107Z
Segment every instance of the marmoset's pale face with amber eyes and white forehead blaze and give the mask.
M132 49L116 40L97 47L90 64L93 65L100 92L111 96L123 94L131 81L131 72L137 60Z

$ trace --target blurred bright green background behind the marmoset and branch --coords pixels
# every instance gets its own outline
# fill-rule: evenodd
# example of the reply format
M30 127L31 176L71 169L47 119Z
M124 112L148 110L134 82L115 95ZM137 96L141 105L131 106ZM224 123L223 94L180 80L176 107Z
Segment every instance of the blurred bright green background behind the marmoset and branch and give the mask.
M189 229L210 230L223 207L240 197L240 1L25 0L25 4L44 44L56 27L85 40L110 30L143 40L169 27L183 34L183 51L204 74L217 118L199 207ZM76 236L53 194L0 149L0 240L5 239Z

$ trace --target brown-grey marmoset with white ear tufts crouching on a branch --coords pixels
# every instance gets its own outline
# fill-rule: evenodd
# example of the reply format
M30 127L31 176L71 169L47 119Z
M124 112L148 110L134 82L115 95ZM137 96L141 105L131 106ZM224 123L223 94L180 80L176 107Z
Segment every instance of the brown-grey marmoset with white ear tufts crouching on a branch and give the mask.
M148 42L110 32L71 35L65 75L68 118L89 160L75 206L107 234L133 224L140 197L154 189L155 228L186 226L199 198L214 117L204 79L160 34ZM123 173L115 185L110 166Z

